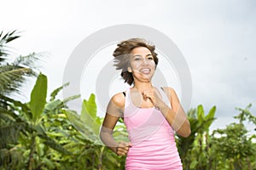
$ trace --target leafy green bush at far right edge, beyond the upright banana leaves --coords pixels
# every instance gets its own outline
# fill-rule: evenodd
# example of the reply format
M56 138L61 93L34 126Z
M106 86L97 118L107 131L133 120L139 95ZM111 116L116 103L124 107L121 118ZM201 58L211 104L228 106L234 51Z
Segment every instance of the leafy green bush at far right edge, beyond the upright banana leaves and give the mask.
M233 122L224 129L213 131L212 146L218 157L215 169L256 169L256 145L253 143L256 135L248 136L244 125L245 121L256 125L256 116L249 111L251 106L247 105L245 109L236 108L241 111L235 116L238 123Z

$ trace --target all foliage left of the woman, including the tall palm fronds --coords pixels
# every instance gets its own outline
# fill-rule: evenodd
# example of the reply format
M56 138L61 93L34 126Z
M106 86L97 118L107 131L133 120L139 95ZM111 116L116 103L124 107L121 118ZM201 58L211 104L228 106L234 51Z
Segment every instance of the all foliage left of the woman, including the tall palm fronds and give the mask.
M40 74L31 101L8 97L19 92L26 77L37 75L33 65L38 54L14 58L9 51L7 44L18 37L17 31L0 33L0 169L123 169L125 157L116 156L98 138L102 119L96 116L94 95L84 99L79 116L66 105L79 95L56 99L68 83L46 101L47 77Z

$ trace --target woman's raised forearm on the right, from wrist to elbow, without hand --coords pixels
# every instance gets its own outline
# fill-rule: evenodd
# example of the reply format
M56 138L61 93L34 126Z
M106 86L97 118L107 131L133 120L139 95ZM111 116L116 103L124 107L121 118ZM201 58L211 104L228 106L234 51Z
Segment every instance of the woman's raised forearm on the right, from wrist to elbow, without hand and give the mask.
M190 134L190 124L183 109L173 111L168 105L162 103L159 110L166 117L166 121L172 126L178 135L188 137Z

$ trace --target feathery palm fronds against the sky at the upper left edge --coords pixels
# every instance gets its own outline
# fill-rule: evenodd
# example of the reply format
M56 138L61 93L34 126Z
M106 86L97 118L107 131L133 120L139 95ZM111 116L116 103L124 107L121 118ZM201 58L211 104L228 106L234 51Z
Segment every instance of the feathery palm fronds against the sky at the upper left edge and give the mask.
M0 33L0 95L5 96L12 92L19 92L26 77L35 76L34 64L38 61L38 54L13 57L7 44L20 37L17 31ZM2 97L0 98L2 99ZM2 105L3 106L3 105Z

